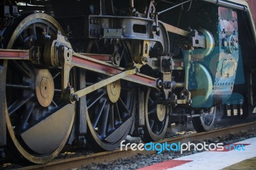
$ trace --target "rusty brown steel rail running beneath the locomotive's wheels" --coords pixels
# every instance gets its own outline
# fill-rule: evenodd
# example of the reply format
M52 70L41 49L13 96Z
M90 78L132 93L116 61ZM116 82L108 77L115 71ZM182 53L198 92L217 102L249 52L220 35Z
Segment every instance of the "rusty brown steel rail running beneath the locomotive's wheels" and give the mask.
M202 133L196 133L196 134L190 134L190 135L184 135L182 137L174 137L171 139L163 139L159 141L159 143L188 143L189 141L200 141L203 139L211 139L214 137L218 137L221 135L227 135L232 133L237 133L242 130L249 130L251 128L256 128L256 121L253 121L251 123L244 123L241 125L233 125L230 127L225 128L219 128L216 130L211 130L210 132L202 132ZM24 169L80 169L83 166L86 166L88 164L92 163L102 163L102 162L111 162L113 160L117 160L118 158L123 158L124 154L125 157L133 157L137 155L138 153L143 154L152 154L156 153L156 151L132 151L130 148L127 151L121 151L120 148L113 150L113 151L104 151L100 153L93 153L86 156L79 156L79 157L73 157L73 158L66 158L62 160L54 160L51 162L48 162L46 164L41 165L35 165L35 166L27 166L27 167L21 167L20 170Z

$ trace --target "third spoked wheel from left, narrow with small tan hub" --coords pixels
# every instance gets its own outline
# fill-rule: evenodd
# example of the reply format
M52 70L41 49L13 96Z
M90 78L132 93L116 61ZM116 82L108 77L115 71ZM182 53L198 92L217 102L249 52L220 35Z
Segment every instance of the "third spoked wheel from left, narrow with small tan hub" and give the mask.
M163 138L168 125L169 115L166 105L157 104L156 89L148 88L145 96L145 126L141 139L148 143Z

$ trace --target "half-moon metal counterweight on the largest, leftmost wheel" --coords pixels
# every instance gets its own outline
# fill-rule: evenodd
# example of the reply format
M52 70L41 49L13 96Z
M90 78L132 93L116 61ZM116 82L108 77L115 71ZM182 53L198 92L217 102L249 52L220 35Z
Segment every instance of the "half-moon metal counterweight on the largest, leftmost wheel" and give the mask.
M51 116L45 118L44 121L40 121L34 127L20 134L20 136L29 148L36 151L36 153L51 153L65 139L66 131L70 127L73 111L73 104L65 105L51 114Z

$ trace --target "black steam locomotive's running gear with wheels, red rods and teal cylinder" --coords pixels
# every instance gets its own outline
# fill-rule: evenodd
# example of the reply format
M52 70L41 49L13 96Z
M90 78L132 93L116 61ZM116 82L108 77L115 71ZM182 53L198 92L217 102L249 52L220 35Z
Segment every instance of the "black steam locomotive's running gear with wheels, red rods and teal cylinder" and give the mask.
M170 13L155 1L76 1L74 8L86 7L76 12L68 1L25 3L43 6L18 12L3 3L0 49L0 146L21 164L48 162L66 143L114 150L128 134L159 141L168 124L188 116L203 132L218 111L252 112L243 98L252 91L239 88L243 76L254 75L243 64L256 63L241 60L243 5L187 1L191 16L169 19L161 13L182 13L185 3L170 1ZM180 17L190 21L180 24ZM237 70L242 80L235 83Z

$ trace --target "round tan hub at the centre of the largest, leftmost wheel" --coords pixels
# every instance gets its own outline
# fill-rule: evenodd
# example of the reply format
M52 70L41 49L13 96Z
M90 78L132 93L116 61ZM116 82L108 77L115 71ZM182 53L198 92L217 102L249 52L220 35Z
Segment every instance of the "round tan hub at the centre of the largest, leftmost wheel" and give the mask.
M51 73L44 69L36 71L36 98L40 105L48 107L54 95L54 82Z

